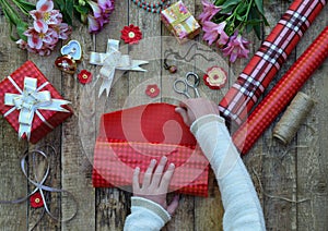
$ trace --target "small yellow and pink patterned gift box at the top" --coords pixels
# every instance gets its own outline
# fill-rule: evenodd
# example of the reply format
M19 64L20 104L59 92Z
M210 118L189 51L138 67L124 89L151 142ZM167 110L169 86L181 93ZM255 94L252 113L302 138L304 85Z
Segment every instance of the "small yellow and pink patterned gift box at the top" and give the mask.
M161 20L180 44L200 33L200 25L183 1L172 4L161 12Z

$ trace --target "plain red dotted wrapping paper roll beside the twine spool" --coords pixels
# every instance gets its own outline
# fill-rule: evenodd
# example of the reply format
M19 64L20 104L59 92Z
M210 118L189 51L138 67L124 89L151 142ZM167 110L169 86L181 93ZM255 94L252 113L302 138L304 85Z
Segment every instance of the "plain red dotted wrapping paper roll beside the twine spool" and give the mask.
M328 57L328 27L296 60L247 121L234 133L233 142L242 154L253 147L259 136L290 104L304 83Z

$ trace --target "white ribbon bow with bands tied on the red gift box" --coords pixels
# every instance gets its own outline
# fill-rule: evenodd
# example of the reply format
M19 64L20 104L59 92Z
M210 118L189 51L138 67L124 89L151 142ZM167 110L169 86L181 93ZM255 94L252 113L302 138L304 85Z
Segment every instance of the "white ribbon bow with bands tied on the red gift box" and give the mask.
M14 110L20 110L19 117L19 137L21 138L24 133L26 134L27 141L31 136L32 122L34 114L36 113L39 119L46 123L49 127L54 129L46 119L38 111L40 110L50 110L50 111L61 111L69 112L67 109L61 108L62 105L70 104L70 101L63 99L51 99L49 90L39 92L49 82L44 83L37 88L37 80L33 77L24 78L24 88L23 90L17 86L17 84L12 80L11 76L8 76L8 80L12 85L19 90L20 94L7 93L4 95L4 105L13 106L9 111L4 113L4 117L9 115Z

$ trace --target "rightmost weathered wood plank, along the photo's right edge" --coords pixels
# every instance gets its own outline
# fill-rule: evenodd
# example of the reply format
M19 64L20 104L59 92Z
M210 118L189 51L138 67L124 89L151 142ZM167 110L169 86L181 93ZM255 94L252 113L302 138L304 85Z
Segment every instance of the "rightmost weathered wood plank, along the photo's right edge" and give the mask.
M328 25L327 7L309 27L306 36L296 49L300 57L312 41ZM328 229L328 157L327 150L327 101L328 101L328 62L319 68L306 82L303 92L315 101L304 125L297 133L296 173L297 199L308 199L298 203L297 230L327 230Z

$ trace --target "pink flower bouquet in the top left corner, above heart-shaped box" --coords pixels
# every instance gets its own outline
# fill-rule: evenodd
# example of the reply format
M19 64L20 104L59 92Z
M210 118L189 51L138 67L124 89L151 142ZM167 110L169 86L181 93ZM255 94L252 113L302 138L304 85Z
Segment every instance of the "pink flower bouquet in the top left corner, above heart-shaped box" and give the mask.
M59 39L68 39L72 32L73 14L89 24L90 33L101 32L114 10L114 0L0 0L10 23L10 37L21 49L48 56ZM57 9L57 10L56 10Z

